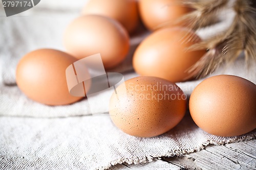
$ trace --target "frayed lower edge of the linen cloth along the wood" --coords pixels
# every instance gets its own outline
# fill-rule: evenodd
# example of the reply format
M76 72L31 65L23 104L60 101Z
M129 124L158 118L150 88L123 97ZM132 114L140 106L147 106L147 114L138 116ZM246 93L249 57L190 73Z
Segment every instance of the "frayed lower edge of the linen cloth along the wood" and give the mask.
M174 156L182 156L185 154L190 154L196 151L201 151L207 147L207 145L214 144L214 145L222 145L222 144L228 144L228 143L235 143L240 141L248 141L256 139L256 134L251 134L248 136L242 136L239 138L234 139L228 139L228 140L220 140L220 141L214 141L214 140L207 140L198 147L190 148L190 149L183 149L183 150L171 150L169 153L162 154L162 155L144 155L143 158L133 157L133 158L122 158L122 159L116 159L114 161L111 161L108 165L97 167L94 169L104 170L108 169L111 166L122 164L122 163L128 163L128 164L139 164L139 163L147 163L147 162L153 162L154 159L158 158L161 159L162 157L174 157Z

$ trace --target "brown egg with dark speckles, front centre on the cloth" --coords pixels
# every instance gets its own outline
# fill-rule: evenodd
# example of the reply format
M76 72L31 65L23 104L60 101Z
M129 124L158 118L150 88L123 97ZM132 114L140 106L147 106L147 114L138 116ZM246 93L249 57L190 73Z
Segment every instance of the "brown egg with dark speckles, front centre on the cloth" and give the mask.
M174 83L137 77L117 87L110 100L110 116L123 132L153 137L174 128L186 111L186 95Z

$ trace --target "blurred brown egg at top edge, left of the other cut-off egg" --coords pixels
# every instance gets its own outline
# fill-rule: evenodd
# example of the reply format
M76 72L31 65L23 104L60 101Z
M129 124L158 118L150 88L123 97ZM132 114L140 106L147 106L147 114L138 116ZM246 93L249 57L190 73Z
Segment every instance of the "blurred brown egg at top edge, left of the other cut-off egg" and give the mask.
M136 0L91 0L84 6L82 14L103 15L116 19L129 33L136 29L139 21Z

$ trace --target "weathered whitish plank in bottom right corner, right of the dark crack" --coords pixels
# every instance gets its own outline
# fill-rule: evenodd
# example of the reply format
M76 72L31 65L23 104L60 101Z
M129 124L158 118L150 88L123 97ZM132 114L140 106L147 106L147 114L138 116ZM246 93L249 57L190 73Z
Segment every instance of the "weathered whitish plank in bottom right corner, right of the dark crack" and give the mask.
M209 145L205 150L179 158L165 158L186 169L255 169L256 140Z

